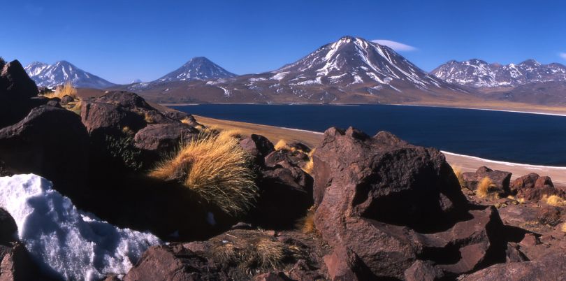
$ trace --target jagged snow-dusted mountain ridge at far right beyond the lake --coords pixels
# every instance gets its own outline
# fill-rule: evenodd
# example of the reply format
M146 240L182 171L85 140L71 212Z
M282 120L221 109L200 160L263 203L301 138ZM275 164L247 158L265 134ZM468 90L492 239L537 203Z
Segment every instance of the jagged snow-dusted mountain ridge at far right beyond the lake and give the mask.
M472 87L502 87L534 82L566 81L566 66L540 64L528 59L521 64L488 64L481 59L450 61L430 72L448 82Z

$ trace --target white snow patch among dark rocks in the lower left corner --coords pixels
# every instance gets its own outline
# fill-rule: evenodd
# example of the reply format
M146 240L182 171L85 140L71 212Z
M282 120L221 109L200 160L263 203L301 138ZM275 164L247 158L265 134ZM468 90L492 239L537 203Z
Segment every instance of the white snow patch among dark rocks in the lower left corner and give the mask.
M77 210L38 175L1 177L0 206L14 217L31 255L66 280L126 273L150 245L161 244L151 233L119 229Z

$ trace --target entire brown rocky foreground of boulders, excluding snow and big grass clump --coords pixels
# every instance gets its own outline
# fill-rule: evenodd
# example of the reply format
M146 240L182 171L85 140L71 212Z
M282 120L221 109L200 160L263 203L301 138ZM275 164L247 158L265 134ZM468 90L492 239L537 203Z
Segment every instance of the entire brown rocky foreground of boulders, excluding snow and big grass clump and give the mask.
M93 279L566 280L566 194L548 177L456 175L439 150L383 131L330 128L280 150L242 136L259 194L231 215L147 177L205 130L190 115L130 92L47 99L19 62L1 67L0 175L41 175L76 208L169 242ZM2 280L64 278L16 232L0 211Z

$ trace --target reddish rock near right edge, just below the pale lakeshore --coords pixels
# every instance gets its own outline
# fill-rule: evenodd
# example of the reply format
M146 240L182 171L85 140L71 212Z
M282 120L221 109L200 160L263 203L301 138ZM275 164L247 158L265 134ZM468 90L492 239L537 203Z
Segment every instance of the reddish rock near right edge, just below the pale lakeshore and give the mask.
M514 180L511 183L511 192L516 194L518 199L525 201L539 201L544 196L551 195L566 196L566 192L554 187L550 177L540 176L537 173L523 175Z

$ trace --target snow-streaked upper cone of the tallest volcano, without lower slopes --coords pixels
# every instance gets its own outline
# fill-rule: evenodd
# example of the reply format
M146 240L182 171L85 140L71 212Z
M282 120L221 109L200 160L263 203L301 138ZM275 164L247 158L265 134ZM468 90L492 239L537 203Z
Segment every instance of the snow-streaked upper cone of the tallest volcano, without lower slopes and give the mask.
M351 36L324 45L273 73L274 80L299 85L372 84L391 87L392 82L397 82L425 89L449 86L391 48Z

